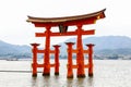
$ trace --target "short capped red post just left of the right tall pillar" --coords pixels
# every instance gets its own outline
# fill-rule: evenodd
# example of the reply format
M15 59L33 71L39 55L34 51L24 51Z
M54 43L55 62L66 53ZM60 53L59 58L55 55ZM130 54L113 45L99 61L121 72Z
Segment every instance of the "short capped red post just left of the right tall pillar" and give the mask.
M66 45L68 45L68 78L73 78L73 70L72 70L72 46L74 45L74 42L66 42Z

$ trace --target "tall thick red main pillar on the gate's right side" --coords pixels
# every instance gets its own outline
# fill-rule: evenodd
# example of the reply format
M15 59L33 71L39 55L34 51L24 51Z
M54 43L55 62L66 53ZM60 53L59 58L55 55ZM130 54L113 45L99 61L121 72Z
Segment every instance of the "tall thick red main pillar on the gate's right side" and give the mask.
M83 53L83 44L82 44L82 25L78 25L78 40L76 40L76 64L79 65L78 67L78 77L85 77L85 72L84 72L84 53Z

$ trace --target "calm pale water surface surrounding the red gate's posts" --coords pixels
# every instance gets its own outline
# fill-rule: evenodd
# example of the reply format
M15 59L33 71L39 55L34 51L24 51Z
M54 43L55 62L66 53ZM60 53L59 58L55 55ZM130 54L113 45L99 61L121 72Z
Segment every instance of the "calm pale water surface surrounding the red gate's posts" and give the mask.
M36 78L32 77L32 73L2 72L31 71L31 63L32 61L0 60L0 87L131 87L130 60L94 60L94 77L92 78L88 76L76 78L76 70L73 71L74 78L67 78L67 60L60 60L59 76L53 75L53 69L49 77L44 77L41 73L38 73ZM87 75L87 70L85 72Z

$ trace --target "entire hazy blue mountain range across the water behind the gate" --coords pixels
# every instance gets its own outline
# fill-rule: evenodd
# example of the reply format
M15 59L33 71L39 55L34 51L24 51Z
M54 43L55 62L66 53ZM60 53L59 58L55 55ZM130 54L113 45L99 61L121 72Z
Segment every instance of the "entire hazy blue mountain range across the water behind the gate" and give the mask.
M66 42L75 42L76 38L71 38L64 42L59 44L61 58L67 58ZM102 36L102 37L87 37L83 39L84 49L85 45L94 44L94 54L98 58L105 57L129 57L131 59L131 38L126 36ZM73 46L75 49L75 45ZM29 46L11 45L0 40L0 57L1 58L31 58L32 51Z

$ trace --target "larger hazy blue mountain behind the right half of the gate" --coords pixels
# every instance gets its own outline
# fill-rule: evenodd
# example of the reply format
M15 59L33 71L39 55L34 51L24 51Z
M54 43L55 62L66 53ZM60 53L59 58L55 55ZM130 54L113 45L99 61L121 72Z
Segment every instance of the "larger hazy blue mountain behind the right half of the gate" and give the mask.
M68 39L64 42L75 42L75 38ZM100 37L87 37L83 39L84 49L87 49L85 45L94 44L94 54L100 58L109 57L129 57L131 59L131 38L126 36L100 36ZM66 55L67 46L61 45L61 55ZM75 45L73 46L75 49ZM127 58L128 59L128 58Z

